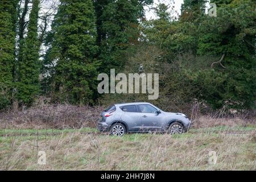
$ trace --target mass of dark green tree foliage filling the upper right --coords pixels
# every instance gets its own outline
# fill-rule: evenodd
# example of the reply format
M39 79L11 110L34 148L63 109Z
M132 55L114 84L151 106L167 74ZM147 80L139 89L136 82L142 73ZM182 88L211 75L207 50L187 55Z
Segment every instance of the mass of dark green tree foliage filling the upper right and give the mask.
M225 104L235 108L255 107L255 6L251 1L218 3L217 17L199 11L197 16L184 17L187 10L204 8L204 1L184 1L180 20L158 15L158 19L144 22L144 40L160 47L169 63L175 63L177 56L186 52L202 57L197 69L189 65L181 73L180 81L190 82L195 90L200 90L192 91L192 97L216 109ZM222 55L224 59L220 60ZM209 60L214 64L203 67ZM181 63L183 67L184 61Z

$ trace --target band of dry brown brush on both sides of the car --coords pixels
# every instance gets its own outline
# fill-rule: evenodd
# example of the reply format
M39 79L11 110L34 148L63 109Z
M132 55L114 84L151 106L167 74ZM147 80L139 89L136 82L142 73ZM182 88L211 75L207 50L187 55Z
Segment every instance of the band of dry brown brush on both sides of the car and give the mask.
M0 129L80 129L95 127L104 106L44 105L27 110L0 113ZM255 112L247 115L225 115L224 110L201 115L199 106L191 109L192 127L248 126L255 124Z

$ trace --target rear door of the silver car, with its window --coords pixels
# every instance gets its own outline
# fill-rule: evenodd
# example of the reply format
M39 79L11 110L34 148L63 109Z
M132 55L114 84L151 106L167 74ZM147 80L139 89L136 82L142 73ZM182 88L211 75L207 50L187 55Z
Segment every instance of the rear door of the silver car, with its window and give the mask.
M126 122L129 131L139 131L141 129L141 115L138 113L137 106L126 105L121 106L121 120Z

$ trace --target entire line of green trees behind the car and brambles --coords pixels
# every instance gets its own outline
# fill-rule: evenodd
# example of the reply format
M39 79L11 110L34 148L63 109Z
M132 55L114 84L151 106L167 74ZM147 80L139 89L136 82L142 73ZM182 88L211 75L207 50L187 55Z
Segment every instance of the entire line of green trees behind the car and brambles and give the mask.
M255 5L207 1L171 6L152 0L1 1L0 109L55 104L109 105L147 101L143 94L100 95L98 73L159 73L163 109L255 109ZM147 20L144 6L155 11ZM5 11L3 11L5 10ZM51 12L51 13L49 13ZM53 13L52 13L53 12ZM150 56L148 56L150 55ZM172 103L170 105L170 103Z

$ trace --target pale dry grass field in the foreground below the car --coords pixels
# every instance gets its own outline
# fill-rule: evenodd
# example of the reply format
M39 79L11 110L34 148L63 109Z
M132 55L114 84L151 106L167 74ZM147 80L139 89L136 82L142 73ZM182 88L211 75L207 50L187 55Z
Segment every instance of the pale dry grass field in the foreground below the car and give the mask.
M38 152L46 152L46 165ZM209 151L217 162L208 163ZM255 170L255 125L191 129L182 135L96 129L0 129L0 170Z

